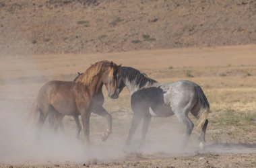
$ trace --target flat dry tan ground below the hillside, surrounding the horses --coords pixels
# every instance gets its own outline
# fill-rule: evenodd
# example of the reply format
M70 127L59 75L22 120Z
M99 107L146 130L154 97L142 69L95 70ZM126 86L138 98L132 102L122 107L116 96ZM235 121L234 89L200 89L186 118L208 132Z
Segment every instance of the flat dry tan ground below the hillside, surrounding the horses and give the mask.
M255 56L255 45L1 56L0 167L256 167ZM181 149L185 126L172 116L152 119L143 151L136 150L139 128L133 151L123 152L133 115L127 89L115 100L105 94L104 108L113 116L113 134L106 142L100 140L106 120L96 114L91 116L90 149L83 133L75 140L69 116L65 137L47 136L46 122L41 142L33 142L25 125L38 89L53 79L71 81L98 60L134 67L161 83L187 79L199 84L211 105L205 149L199 149L196 130L187 149Z

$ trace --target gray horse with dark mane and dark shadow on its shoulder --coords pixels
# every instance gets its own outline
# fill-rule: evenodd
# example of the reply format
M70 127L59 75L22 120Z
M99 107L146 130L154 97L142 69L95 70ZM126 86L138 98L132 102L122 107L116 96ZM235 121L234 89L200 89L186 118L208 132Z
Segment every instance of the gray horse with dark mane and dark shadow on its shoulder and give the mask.
M131 93L131 108L134 113L129 135L125 143L126 147L131 143L131 138L142 119L143 126L140 147L143 147L145 144L146 134L152 116L168 117L173 114L187 127L183 141L183 146L187 146L189 136L194 128L193 122L188 118L188 113L191 112L197 118L197 128L201 130L199 140L200 148L203 149L210 104L199 85L192 81L177 81L161 84L140 73L137 69L121 67L118 93L121 93L125 86Z

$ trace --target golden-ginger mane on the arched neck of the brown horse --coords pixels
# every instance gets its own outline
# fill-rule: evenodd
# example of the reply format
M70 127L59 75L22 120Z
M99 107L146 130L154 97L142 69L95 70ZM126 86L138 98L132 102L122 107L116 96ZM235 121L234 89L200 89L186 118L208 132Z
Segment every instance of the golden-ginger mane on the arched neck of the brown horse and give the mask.
M91 67L86 69L86 72L78 75L78 77L76 77L74 81L83 83L84 85L90 85L94 80L94 77L101 73L102 67L107 65L110 65L110 62L108 60L96 62L94 65L91 65Z

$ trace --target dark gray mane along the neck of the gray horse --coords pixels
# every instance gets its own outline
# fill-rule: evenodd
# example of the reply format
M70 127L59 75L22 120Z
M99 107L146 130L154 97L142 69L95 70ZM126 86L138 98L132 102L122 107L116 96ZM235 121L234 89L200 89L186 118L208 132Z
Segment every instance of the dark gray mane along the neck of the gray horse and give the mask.
M132 67L121 67L121 78L133 81L135 85L139 86L139 89L146 85L146 83L157 83L154 79L149 78L145 73L141 73L139 70Z

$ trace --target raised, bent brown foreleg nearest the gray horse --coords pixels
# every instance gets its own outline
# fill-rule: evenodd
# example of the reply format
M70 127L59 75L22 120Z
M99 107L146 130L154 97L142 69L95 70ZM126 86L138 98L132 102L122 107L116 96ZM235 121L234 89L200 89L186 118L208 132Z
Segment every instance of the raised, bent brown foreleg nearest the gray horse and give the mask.
M108 112L106 112L106 110L102 106L96 108L94 113L108 120L108 129L106 130L106 133L102 135L102 141L104 142L108 139L108 136L110 136L110 134L112 133L112 120L113 120L112 116Z

